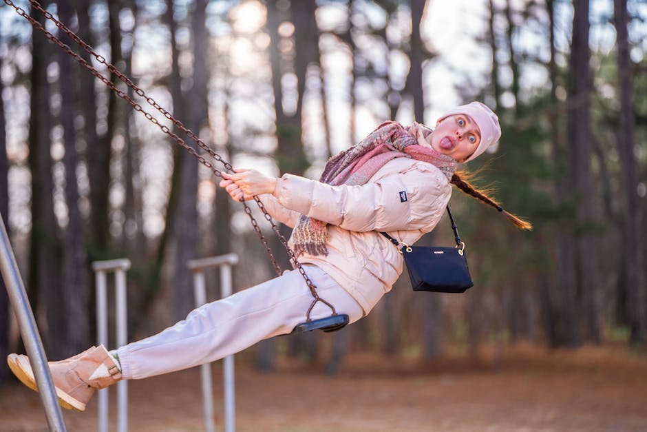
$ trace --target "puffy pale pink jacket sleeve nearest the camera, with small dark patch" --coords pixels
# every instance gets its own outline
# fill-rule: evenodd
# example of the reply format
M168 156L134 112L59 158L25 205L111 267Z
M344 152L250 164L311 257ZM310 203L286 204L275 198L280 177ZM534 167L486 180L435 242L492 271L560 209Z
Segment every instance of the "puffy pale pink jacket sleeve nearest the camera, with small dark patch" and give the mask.
M429 231L452 194L447 177L432 165L390 174L365 185L331 186L286 174L274 195L300 214L355 232Z

